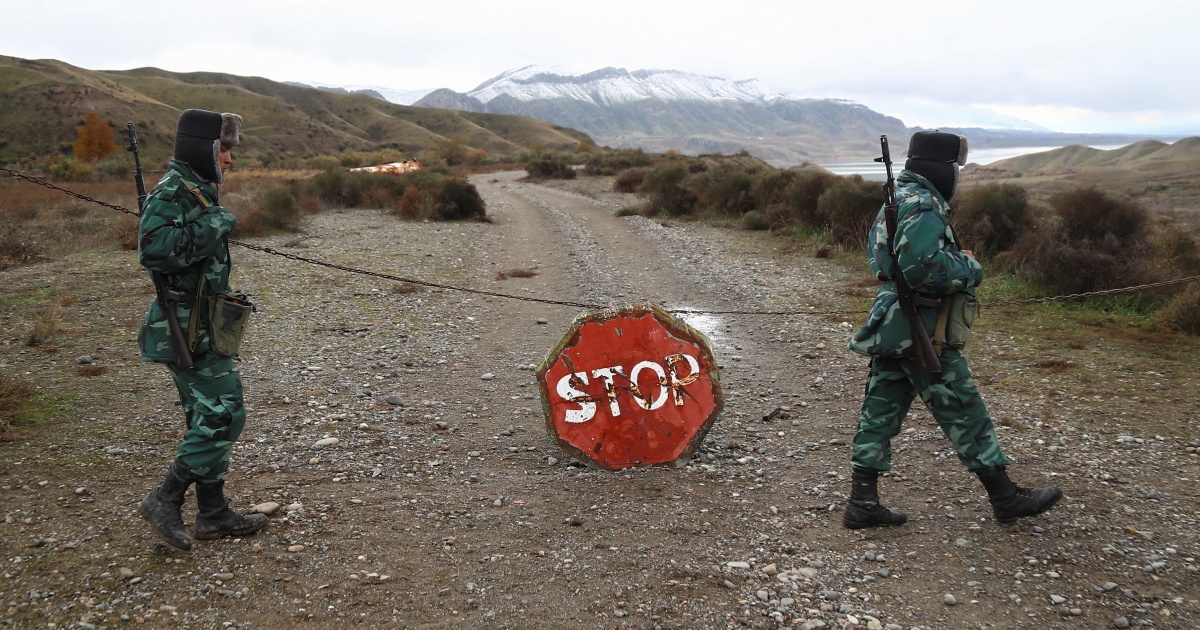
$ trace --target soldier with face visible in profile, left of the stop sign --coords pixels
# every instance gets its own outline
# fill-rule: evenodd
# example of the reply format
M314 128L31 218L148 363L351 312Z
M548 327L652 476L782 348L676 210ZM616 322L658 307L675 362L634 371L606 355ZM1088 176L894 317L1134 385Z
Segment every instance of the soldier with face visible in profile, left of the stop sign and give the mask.
M246 424L246 409L234 358L210 348L204 307L211 295L229 290L228 236L236 220L218 205L217 185L233 164L230 150L238 145L240 126L241 116L236 114L185 110L179 116L174 160L148 194L138 226L142 265L190 296L178 306L176 314L184 336L194 343L193 368L175 365L167 318L157 300L151 302L138 331L142 359L167 365L187 420L187 432L167 478L138 504L138 510L160 538L181 550L192 547L192 536L180 516L192 484L198 504L197 539L248 535L266 526L264 515L242 516L230 510L224 498L229 454ZM197 305L200 307L193 319Z

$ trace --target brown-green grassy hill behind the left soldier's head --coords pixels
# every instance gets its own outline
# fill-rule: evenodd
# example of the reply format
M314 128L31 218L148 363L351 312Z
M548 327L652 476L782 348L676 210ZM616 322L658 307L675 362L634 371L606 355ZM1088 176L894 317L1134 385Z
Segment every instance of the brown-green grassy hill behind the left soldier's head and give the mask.
M266 164L344 150L396 149L415 157L450 139L496 157L590 142L582 132L528 116L407 107L260 77L149 67L92 71L0 55L0 163L70 155L76 127L88 112L109 120L118 144L126 121L133 121L143 158L148 164L162 162L169 157L179 113L190 107L241 114L241 157Z

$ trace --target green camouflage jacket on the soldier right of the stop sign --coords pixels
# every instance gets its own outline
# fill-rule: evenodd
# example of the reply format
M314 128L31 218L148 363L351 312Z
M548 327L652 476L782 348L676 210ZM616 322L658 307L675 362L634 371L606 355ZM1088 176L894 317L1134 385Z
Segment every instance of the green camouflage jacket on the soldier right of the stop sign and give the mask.
M888 253L888 227L883 209L866 236L871 271L883 281L866 324L851 337L851 350L866 356L896 358L912 353L912 329L900 310L895 282L896 262L908 286L932 298L952 293L974 293L983 281L983 268L971 256L959 251L950 229L949 204L929 180L901 170L896 178L895 260ZM918 306L918 313L930 336L937 324L937 310Z

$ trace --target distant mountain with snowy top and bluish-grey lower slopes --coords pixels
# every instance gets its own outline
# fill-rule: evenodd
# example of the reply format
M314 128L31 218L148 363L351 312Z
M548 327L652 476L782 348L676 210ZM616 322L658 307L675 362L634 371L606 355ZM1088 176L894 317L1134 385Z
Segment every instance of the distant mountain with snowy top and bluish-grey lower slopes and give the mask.
M796 98L757 79L668 70L605 67L563 73L523 66L468 92L442 89L414 103L516 114L581 130L617 149L685 154L745 150L790 166L878 150L878 137L907 137L904 122L840 98Z

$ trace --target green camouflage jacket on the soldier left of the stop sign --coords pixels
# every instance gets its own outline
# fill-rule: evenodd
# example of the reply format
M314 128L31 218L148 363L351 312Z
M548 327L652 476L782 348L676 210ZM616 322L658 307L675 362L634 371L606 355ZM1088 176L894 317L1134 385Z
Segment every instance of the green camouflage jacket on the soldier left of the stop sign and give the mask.
M170 287L187 298L175 308L184 337L190 337L197 287L204 275L202 308L197 313L196 349L209 348L205 296L229 290L229 233L238 224L233 214L217 205L217 191L203 182L185 162L172 161L146 196L138 224L138 262L162 274ZM150 304L138 331L142 360L174 362L170 331L157 299Z

